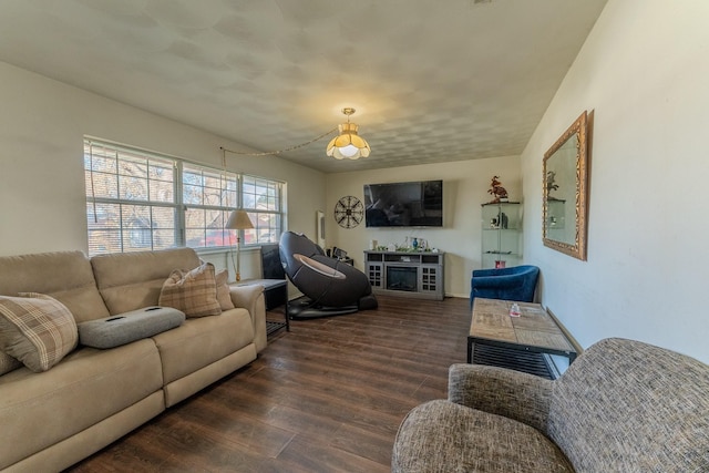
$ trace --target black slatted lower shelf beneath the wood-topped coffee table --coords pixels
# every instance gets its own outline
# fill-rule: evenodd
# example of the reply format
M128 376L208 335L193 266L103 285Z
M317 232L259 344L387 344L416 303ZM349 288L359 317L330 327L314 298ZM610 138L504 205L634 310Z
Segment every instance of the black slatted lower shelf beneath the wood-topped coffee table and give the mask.
M508 368L546 379L556 379L559 376L547 354L480 343L473 347L473 363Z

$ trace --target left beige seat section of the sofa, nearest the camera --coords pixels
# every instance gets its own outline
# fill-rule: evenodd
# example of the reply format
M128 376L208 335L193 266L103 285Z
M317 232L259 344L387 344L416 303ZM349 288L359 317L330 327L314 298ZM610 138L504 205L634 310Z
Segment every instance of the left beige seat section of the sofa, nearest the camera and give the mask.
M49 371L0 377L0 471L160 392L162 381L152 340L80 348Z

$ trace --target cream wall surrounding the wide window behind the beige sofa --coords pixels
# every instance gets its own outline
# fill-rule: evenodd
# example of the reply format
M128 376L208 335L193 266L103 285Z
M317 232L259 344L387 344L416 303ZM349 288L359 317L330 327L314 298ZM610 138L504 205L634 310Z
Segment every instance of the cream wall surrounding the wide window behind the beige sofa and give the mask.
M222 167L219 136L0 62L0 255L88 251L83 136ZM235 110L234 113L238 113ZM288 227L311 232L325 175L279 157L227 154L227 167L288 183ZM256 255L243 258L243 277ZM260 266L254 270L260 271Z

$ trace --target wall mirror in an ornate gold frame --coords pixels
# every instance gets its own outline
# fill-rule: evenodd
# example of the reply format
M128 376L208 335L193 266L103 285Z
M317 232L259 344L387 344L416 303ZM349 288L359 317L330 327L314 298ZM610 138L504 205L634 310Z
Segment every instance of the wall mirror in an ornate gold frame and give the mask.
M544 154L542 239L544 245L586 260L586 112Z

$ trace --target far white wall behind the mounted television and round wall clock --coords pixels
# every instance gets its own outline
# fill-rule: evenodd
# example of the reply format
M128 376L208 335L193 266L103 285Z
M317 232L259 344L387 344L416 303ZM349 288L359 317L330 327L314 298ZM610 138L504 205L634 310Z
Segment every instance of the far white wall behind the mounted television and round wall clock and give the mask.
M377 150L372 150L368 160L376 160L376 153ZM445 294L470 297L471 271L481 267L481 204L492 199L487 189L495 175L500 176L511 200L522 198L517 156L328 174L328 207L322 209L327 246L347 250L354 258L354 265L363 269L363 251L369 249L370 240L387 245L403 244L407 236L425 238L430 246L445 251ZM428 179L443 179L443 228L366 228L363 222L354 228L342 228L335 222L337 200L352 195L363 202L364 184Z

